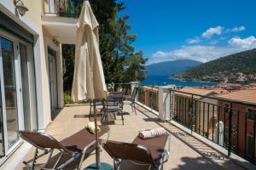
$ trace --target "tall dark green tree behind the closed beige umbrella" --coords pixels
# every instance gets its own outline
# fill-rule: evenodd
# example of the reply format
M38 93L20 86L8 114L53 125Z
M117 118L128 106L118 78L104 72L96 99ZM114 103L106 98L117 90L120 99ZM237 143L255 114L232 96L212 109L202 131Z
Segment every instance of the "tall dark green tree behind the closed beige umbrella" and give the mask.
M72 2L77 9L76 13L79 13L81 0L72 0ZM90 5L100 25L100 53L106 82L143 81L146 77L146 59L142 51L136 52L132 46L132 42L135 42L137 37L129 33L131 30L131 25L127 24L129 15L118 16L125 8L124 3L117 3L116 0L90 0ZM74 58L65 48L66 46L63 47L64 58ZM68 75L64 74L65 76ZM70 77L65 80L64 84L72 84L69 82Z

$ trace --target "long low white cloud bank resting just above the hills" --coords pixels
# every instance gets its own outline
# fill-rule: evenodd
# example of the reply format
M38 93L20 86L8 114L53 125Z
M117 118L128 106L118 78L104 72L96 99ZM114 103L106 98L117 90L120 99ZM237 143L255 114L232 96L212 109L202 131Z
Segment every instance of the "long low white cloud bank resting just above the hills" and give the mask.
M214 45L189 45L172 51L158 51L148 59L148 65L168 60L176 59L195 59L201 62L207 62L212 59L218 59L229 54L235 54L244 50L256 48L256 38L251 36L247 38L233 37L225 47Z

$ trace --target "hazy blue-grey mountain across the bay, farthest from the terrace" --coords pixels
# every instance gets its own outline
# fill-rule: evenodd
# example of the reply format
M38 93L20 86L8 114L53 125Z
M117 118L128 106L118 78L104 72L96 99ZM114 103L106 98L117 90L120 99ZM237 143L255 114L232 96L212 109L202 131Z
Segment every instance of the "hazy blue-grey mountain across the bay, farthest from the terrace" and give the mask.
M179 72L201 65L200 61L192 59L178 59L148 65L148 76L172 76Z

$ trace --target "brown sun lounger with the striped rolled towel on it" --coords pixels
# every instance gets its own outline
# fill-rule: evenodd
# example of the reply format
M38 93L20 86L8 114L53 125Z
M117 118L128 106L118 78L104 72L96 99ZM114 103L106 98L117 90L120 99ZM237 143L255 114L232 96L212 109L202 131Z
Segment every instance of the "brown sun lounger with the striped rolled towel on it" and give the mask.
M170 135L164 135L152 139L141 139L137 136L131 144L116 141L107 141L103 144L113 158L114 169L121 167L122 161L130 160L139 165L148 165L148 169L163 169L165 159L170 152ZM166 144L168 150L166 150Z

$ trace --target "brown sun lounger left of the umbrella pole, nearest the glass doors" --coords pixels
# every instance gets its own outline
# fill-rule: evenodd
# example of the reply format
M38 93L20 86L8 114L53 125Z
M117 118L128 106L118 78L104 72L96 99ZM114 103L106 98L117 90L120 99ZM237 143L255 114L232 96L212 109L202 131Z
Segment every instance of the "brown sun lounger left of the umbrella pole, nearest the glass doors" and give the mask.
M109 135L109 127L100 126L100 128L101 132L99 133L99 137L105 133L108 133ZM67 137L67 139L61 140L60 142L49 134L39 132L20 131L20 137L36 147L34 157L29 161L23 161L26 167L30 167L30 169L34 169L35 167L39 167L40 169L62 169L79 157L80 161L78 169L80 169L82 162L84 161L85 153L88 152L90 147L96 144L95 134L90 133L85 128L80 130L78 133L74 133L70 137ZM38 150L44 150L44 153L38 155ZM60 154L57 157L55 164L52 167L48 167L48 163L52 158L54 150L59 150ZM39 157L48 154L48 161L43 165L36 164ZM64 154L67 155L69 159L61 163L61 158Z

